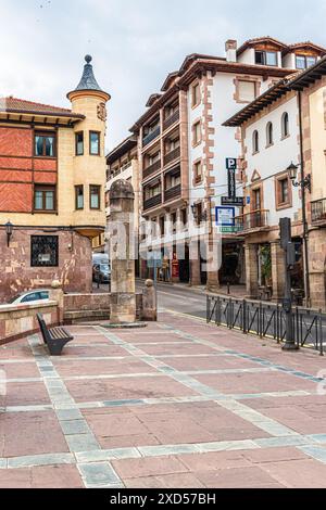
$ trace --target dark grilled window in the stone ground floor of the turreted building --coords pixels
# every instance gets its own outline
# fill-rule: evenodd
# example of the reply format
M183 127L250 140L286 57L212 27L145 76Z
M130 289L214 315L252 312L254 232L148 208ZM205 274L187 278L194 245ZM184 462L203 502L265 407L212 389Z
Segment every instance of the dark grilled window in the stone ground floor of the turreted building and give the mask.
M59 265L58 235L32 235L30 266L57 267Z

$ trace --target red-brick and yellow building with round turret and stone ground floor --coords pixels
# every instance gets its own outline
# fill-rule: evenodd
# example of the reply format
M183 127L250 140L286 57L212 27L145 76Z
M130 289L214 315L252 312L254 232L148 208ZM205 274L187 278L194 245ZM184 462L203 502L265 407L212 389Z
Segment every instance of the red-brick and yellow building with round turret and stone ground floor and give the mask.
M91 291L91 240L105 228L105 103L91 58L72 110L0 99L0 303L55 279Z

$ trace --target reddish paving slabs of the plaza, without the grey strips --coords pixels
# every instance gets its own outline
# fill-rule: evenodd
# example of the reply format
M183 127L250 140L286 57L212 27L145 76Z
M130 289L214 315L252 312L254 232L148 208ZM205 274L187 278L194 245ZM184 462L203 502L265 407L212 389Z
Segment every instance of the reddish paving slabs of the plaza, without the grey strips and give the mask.
M228 370L262 368L255 361L237 357L218 357L212 347L189 343L183 335L164 329L170 323L185 333L212 342L217 348L235 349L258 356L316 377L325 368L325 358L315 353L285 354L271 341L260 341L235 332L180 318L161 315L159 324L149 324L135 333L115 330L115 336L129 344L141 345L149 355L166 355L161 359L179 371ZM52 362L63 378L66 387L77 403L114 401L124 399L197 397L200 394L173 380L168 374L158 378L116 378L112 380L87 377L104 374L154 373L156 369L138 358L133 358L122 346L112 342L93 328L70 328L76 334L75 342L66 347L63 358ZM75 345L83 345L74 347ZM43 347L40 343L40 352ZM218 353L217 353L218 354ZM172 355L181 355L173 358ZM203 355L191 358L189 355ZM86 360L85 357L121 356L121 360ZM64 358L71 360L65 361ZM35 364L1 365L1 359L34 360L26 341L0 347L0 370L8 378L39 378ZM84 377L67 381L70 377ZM243 406L258 410L302 435L326 433L325 396L316 395L316 384L284 372L195 374L199 381L217 393L258 394L303 390L311 394L300 397L267 397L241 400ZM28 406L49 404L45 384L9 383L8 395L0 397L2 406ZM214 401L186 404L155 404L122 406L82 410L87 423L103 449L178 444L216 443L269 438L271 435L249 421ZM321 449L326 447L321 446ZM5 412L0 420L0 458L13 458L42 454L65 454L68 447L54 411ZM294 447L271 447L238 451L145 457L112 462L129 488L220 488L220 487L325 487L326 464L318 462ZM83 487L76 466L49 466L28 469L0 469L0 487Z

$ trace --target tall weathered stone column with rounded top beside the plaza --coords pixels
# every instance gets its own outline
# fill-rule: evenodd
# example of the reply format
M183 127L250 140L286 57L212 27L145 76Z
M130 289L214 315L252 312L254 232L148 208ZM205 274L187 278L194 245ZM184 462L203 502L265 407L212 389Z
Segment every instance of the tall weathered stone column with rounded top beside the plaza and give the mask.
M134 201L130 182L117 180L110 190L111 324L136 321Z

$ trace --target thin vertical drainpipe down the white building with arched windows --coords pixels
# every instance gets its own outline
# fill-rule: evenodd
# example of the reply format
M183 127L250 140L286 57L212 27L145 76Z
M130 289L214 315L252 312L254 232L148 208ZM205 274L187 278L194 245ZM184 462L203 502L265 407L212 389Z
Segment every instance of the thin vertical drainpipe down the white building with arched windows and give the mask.
M302 92L298 91L298 105L299 105L299 130L300 130L300 158L301 158L301 180L305 177L305 164L303 152L303 126L302 126ZM303 250L304 250L304 288L305 288L305 306L311 306L310 294L310 273L309 273L309 227L306 221L306 195L305 187L301 187L301 202L302 202L302 222L303 222Z

